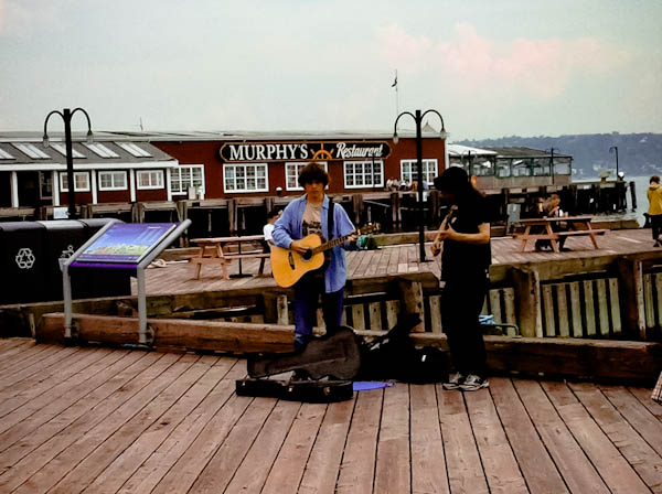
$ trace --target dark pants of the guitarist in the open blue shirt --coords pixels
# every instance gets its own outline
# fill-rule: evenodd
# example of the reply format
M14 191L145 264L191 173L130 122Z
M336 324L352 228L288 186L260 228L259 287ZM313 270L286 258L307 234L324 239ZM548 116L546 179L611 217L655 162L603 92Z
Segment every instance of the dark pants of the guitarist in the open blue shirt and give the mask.
M343 289L324 292L324 277L317 273L305 275L295 284L295 342L305 343L317 323L317 309L322 296L322 314L327 333L332 333L342 321L344 307Z

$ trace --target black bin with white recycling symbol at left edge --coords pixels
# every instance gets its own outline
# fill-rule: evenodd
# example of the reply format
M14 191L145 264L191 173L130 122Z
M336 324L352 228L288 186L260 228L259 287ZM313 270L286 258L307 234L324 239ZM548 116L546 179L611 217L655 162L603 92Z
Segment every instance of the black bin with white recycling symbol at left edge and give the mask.
M45 234L44 226L36 222L0 223L0 304L44 300Z

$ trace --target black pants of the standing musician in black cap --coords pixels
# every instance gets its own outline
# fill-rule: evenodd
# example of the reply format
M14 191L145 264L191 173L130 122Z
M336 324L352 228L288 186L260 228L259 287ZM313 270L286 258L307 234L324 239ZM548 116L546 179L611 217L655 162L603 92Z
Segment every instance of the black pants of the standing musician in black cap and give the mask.
M488 291L485 271L463 272L446 281L441 324L456 370L485 377L485 344L478 320Z

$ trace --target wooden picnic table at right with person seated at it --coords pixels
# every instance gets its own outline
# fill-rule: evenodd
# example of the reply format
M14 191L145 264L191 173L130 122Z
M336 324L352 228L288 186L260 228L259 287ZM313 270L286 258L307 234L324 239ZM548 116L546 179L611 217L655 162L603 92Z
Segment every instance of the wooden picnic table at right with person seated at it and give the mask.
M515 238L522 240L522 251L526 250L526 244L528 240L549 240L552 244L552 248L555 253L559 251L558 248L558 239L562 237L577 237L577 236L588 236L596 249L599 249L597 236L605 235L606 229L597 229L594 228L590 222L592 221L592 216L549 216L542 218L526 218L520 219L520 223L524 225L524 233L515 235ZM565 223L567 225L567 230L565 232L554 232L554 224ZM531 233L532 227L542 227L534 228L534 233ZM537 229L542 229L542 232L535 232Z

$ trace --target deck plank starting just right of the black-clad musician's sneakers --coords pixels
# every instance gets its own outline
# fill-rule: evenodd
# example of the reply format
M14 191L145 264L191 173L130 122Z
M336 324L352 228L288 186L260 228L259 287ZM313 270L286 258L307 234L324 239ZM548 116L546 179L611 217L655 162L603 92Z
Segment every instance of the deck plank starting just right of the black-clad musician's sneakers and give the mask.
M511 380L490 378L490 393L531 493L567 493L568 490Z

